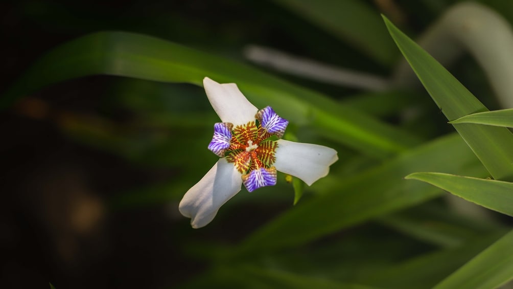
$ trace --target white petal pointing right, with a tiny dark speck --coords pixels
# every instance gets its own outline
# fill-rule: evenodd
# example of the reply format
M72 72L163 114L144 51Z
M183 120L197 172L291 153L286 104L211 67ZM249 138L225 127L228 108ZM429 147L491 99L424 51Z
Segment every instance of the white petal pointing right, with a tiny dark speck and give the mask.
M306 184L326 177L329 166L339 157L337 151L327 146L305 144L280 139L276 148L274 166L285 174L298 177Z

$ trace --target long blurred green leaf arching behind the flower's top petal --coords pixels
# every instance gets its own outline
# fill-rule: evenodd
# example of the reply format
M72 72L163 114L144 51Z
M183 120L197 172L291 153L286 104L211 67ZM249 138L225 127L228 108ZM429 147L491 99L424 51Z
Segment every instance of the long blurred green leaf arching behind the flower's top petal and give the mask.
M3 95L0 107L44 86L91 74L195 85L201 85L205 76L234 82L255 106L271 105L289 121L313 126L323 136L373 157L387 158L419 143L408 133L258 69L125 32L93 33L54 48Z

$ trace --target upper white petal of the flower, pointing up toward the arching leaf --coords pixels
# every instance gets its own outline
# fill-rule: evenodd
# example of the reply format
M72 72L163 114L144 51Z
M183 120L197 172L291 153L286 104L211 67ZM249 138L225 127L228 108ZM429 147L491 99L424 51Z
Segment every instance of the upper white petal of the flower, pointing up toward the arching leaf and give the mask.
M236 84L219 84L209 78L203 79L208 100L222 122L235 126L255 120L258 109L242 94Z

